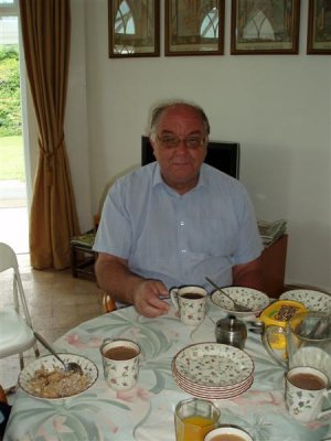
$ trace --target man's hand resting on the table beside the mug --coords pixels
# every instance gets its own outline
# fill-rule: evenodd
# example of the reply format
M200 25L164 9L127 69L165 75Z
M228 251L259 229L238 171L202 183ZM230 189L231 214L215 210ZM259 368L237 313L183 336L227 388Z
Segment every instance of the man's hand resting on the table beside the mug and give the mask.
M147 316L154 318L167 314L169 304L159 297L169 295L167 287L160 280L142 280L132 292L132 302L136 310Z

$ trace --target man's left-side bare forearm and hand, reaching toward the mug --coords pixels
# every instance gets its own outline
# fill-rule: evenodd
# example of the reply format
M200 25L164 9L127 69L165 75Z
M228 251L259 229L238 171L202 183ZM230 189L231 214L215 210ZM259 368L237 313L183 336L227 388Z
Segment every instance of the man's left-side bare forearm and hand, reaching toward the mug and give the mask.
M100 252L95 265L98 286L111 298L134 304L145 316L158 316L169 310L168 303L159 299L168 295L167 287L160 280L143 279L130 271L127 260Z

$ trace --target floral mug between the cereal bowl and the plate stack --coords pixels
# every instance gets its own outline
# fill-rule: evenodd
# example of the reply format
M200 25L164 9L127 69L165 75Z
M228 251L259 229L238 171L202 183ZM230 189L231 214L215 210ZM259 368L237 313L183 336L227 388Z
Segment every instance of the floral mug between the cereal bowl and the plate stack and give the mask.
M139 345L126 338L105 338L100 353L107 385L114 390L131 389L138 380Z

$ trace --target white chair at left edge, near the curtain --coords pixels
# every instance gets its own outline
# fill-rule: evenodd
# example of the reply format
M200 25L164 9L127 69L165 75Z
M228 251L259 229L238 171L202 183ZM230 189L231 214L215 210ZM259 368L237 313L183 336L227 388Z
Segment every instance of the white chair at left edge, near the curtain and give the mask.
M22 369L25 351L33 346L36 357L40 353L33 335L17 255L10 246L0 243L0 272L8 270L12 270L13 305L0 308L0 358L19 354Z

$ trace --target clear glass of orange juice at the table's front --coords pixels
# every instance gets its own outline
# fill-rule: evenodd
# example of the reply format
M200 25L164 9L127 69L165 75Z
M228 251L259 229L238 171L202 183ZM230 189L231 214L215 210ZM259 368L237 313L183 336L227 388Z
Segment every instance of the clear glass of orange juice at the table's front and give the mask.
M190 398L180 401L174 410L177 441L203 441L217 427L221 411L212 401Z

